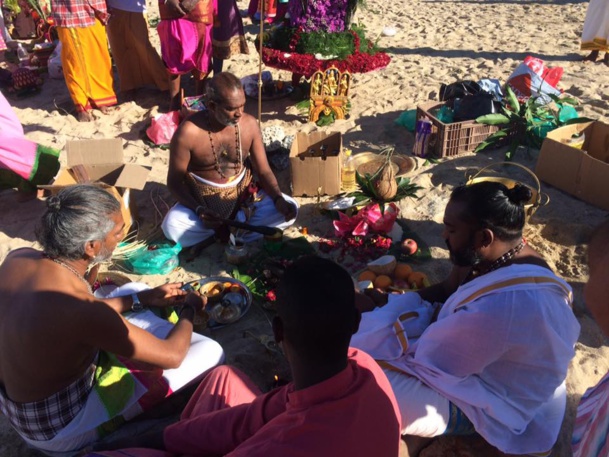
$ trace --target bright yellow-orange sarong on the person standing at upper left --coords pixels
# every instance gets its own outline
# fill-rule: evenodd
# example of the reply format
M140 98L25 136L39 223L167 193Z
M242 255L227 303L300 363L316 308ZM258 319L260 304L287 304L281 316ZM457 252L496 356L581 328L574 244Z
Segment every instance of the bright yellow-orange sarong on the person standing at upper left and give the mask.
M57 27L63 74L77 111L116 105L106 28Z

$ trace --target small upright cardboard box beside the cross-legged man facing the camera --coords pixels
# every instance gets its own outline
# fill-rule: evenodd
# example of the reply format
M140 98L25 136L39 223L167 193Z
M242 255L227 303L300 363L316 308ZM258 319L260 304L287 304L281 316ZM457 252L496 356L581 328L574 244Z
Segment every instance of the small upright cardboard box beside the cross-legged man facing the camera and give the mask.
M292 195L340 193L343 140L340 133L298 133L290 150Z

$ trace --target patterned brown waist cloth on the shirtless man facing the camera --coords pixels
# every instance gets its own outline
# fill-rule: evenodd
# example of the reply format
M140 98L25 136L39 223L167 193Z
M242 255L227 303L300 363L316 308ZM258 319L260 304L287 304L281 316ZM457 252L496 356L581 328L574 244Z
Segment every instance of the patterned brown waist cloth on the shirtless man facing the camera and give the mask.
M247 165L248 162L246 162ZM247 188L252 181L252 172L245 169L245 176L232 187L213 187L186 175L186 184L199 204L215 211L224 219L232 218L239 209L242 199L248 195Z

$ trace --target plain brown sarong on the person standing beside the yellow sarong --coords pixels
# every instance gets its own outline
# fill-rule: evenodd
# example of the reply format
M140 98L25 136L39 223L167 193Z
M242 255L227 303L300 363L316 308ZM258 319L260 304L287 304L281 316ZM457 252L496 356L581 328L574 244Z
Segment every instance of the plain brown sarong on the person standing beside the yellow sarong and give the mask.
M144 14L113 8L107 29L121 91L148 84L159 90L169 90L169 75L158 52L150 44Z

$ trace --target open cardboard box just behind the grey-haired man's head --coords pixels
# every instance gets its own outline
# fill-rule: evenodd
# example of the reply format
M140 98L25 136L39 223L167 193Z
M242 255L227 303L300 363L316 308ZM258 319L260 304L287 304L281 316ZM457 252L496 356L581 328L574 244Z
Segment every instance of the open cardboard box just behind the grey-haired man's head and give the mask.
M141 190L146 185L149 167L123 163L123 141L80 140L66 143L67 167L59 171L52 184L38 186L57 193L66 186L94 182L108 188L121 203L125 234L137 219L130 189Z

